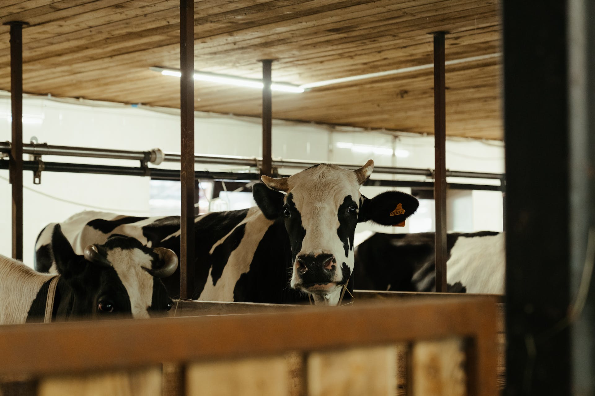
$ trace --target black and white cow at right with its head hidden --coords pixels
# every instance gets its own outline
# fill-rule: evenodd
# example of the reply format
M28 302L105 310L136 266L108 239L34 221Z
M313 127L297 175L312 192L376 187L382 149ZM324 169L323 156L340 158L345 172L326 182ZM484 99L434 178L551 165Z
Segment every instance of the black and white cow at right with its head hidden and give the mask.
M504 234L481 231L446 237L448 291L504 293ZM434 233L377 233L355 249L355 288L398 292L433 292Z

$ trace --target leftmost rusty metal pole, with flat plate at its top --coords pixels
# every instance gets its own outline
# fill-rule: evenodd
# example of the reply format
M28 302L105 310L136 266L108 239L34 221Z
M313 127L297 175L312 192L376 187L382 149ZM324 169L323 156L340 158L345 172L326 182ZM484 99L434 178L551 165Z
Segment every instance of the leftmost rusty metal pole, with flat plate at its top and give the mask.
M9 156L12 184L12 258L23 259L23 26L10 25L10 98L12 108L12 137Z

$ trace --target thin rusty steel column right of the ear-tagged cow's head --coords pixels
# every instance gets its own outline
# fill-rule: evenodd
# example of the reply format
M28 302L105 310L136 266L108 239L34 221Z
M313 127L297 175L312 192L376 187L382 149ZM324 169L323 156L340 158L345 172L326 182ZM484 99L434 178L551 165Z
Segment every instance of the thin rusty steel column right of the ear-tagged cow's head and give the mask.
M446 85L444 32L434 33L434 201L436 202L436 292L446 292Z

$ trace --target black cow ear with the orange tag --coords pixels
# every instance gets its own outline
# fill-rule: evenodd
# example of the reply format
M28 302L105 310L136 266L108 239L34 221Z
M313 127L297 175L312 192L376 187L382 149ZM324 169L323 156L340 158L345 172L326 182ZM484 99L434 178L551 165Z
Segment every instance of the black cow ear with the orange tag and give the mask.
M419 201L413 195L400 191L387 191L368 199L362 195L358 222L374 221L382 226L394 226L402 223L415 213Z

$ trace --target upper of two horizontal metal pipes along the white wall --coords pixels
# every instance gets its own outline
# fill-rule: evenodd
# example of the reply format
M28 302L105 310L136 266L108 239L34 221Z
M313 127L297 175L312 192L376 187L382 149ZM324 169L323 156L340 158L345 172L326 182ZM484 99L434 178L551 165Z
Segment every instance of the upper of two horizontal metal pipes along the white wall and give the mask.
M0 142L0 153L10 152L10 142ZM129 150L111 150L106 148L89 148L89 147L70 147L60 145L47 144L23 144L23 154L37 154L44 156L68 156L68 157L90 157L90 158L104 158L117 160L149 160L152 156L152 151L129 151ZM165 153L164 162L180 162L180 154ZM226 166L249 166L258 167L262 159L255 157L240 157L240 156L206 156L202 154L195 154L195 163L199 164L217 164ZM316 165L317 161L299 161L299 160L273 160L273 167L275 168L306 168ZM352 164L336 164L345 169L358 169L359 166ZM152 168L153 169L153 168ZM386 173L389 175L415 175L432 177L431 169L418 168L402 168L390 166L375 166L375 173ZM447 170L446 176L456 178L472 178L472 179L502 179L501 173L484 173L484 172L464 172L459 170Z

